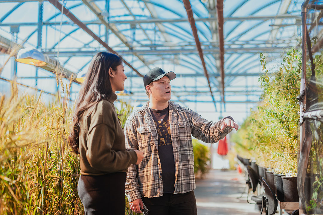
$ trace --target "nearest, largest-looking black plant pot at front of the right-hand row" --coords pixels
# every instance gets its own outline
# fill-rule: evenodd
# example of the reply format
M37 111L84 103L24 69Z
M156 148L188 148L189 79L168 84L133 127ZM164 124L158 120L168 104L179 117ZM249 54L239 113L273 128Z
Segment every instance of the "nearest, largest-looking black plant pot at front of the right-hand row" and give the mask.
M297 178L282 176L284 188L284 200L287 202L298 202Z

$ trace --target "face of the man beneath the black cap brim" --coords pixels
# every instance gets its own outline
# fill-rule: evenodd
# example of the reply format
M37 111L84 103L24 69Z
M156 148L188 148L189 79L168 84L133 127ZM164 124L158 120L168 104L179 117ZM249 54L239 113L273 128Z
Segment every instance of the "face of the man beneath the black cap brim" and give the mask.
M147 85L147 91L152 99L158 102L168 102L171 100L171 84L168 76L154 81L150 86Z

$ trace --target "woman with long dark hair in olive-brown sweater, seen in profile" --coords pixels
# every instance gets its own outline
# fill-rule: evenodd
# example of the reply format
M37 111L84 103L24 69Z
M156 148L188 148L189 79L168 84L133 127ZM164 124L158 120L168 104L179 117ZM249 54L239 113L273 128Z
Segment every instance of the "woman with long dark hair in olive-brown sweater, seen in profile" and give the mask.
M122 58L99 52L89 66L73 113L69 145L80 156L78 195L85 214L125 213L125 181L130 164L143 158L126 151L125 137L113 102L124 89Z

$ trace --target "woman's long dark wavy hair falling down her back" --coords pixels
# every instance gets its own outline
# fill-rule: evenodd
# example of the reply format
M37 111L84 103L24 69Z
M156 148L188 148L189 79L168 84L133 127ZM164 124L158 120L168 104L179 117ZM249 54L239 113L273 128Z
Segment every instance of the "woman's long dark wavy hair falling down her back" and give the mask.
M72 130L68 136L68 143L76 154L79 154L78 135L83 113L99 101L109 99L112 95L109 68L116 70L121 64L122 57L112 53L99 52L93 57L78 94L72 117Z

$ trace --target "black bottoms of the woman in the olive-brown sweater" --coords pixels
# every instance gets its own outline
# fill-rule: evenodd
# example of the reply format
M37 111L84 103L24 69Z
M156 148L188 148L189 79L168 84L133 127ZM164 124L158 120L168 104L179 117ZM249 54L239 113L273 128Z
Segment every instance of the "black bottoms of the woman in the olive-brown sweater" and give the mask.
M86 215L124 215L125 172L101 176L81 175L78 179L78 196Z

